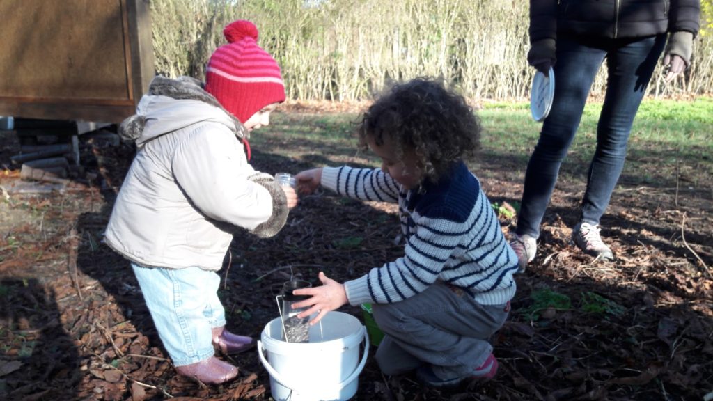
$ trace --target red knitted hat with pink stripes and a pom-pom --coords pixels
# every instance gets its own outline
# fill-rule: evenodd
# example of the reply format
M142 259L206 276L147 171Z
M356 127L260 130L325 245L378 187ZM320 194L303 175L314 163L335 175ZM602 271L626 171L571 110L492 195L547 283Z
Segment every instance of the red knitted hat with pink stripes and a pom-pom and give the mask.
M257 27L235 21L223 29L227 44L215 49L205 71L205 90L245 123L268 104L284 101L275 59L257 46Z

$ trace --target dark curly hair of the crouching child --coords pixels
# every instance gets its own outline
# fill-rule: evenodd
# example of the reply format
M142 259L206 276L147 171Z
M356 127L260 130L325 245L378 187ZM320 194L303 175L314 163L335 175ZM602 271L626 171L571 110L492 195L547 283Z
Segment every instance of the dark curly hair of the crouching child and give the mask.
M394 141L396 157L414 148L424 179L437 182L454 163L475 156L480 148L480 119L466 99L446 88L442 79L415 78L396 84L377 99L359 121L359 141L383 145Z

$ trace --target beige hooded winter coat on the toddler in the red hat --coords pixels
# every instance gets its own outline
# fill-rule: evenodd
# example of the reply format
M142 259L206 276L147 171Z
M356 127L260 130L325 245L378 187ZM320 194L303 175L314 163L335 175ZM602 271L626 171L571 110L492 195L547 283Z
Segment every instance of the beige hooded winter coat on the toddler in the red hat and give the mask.
M271 218L272 196L248 179L245 128L195 81L157 79L121 127L139 150L105 242L140 265L219 270L232 234Z

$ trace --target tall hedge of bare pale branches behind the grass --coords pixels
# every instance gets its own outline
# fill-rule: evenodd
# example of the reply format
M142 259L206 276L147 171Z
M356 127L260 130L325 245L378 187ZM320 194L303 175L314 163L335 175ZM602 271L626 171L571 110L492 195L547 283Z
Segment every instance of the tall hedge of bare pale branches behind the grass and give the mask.
M250 19L297 100L361 100L414 76L443 76L468 98L522 99L534 73L525 0L152 0L151 9L159 73L203 78L222 27ZM713 31L697 37L684 76L655 76L650 96L713 93Z

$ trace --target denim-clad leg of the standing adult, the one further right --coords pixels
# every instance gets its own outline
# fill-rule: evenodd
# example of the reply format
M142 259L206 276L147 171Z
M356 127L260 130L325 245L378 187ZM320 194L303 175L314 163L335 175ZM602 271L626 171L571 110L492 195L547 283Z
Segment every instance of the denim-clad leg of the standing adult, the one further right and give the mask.
M609 205L624 167L627 142L666 35L612 41L607 55L607 91L597 125L597 150L590 164L582 220L591 225Z

